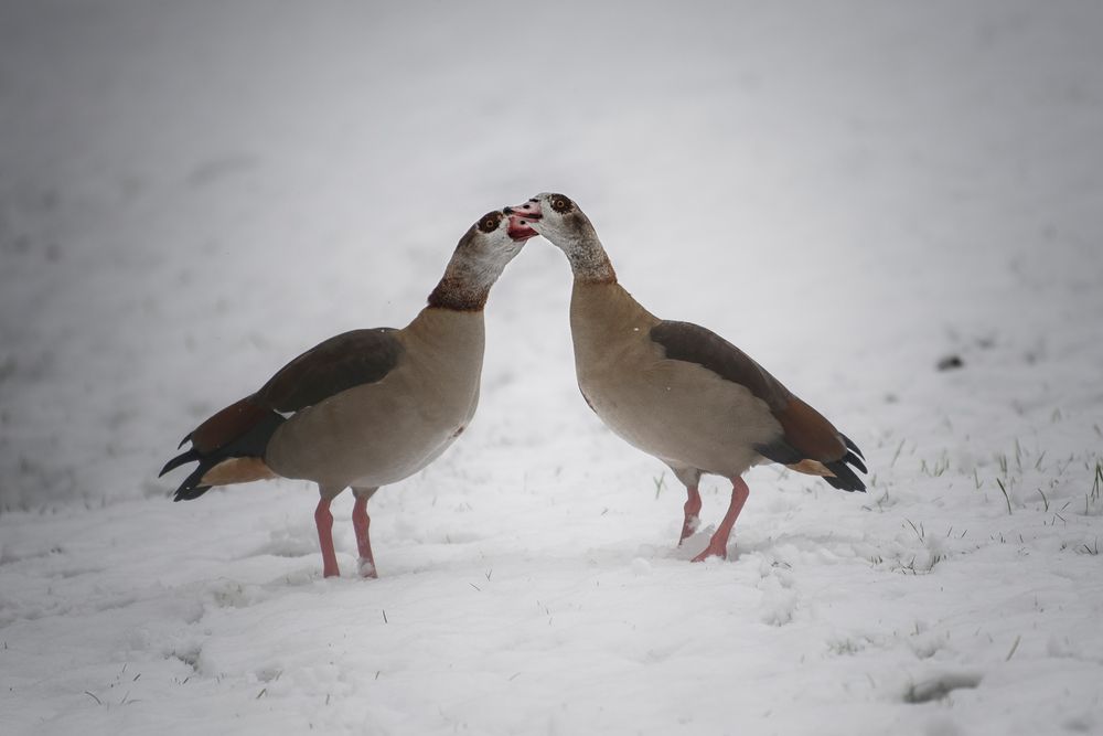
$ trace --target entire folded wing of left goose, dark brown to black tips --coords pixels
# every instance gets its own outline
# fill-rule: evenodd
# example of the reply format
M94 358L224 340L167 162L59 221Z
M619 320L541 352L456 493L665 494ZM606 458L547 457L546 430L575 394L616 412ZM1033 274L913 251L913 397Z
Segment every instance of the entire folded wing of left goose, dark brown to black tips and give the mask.
M199 461L176 489L175 500L194 499L210 486L207 470L232 458L264 458L272 434L288 413L318 404L349 388L382 381L398 364L401 343L392 328L353 330L330 338L285 365L260 391L231 404L184 437L192 446L169 460L161 476Z

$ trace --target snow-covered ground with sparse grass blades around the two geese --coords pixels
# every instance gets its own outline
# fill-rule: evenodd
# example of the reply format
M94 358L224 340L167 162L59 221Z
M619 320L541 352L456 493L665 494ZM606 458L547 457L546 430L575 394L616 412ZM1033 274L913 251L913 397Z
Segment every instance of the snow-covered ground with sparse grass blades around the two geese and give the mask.
M729 487L678 550L536 238L378 580L349 495L329 580L313 487L168 500L185 431L547 190L869 492L757 468L690 564ZM1099 3L9 0L0 258L6 735L1103 733Z

